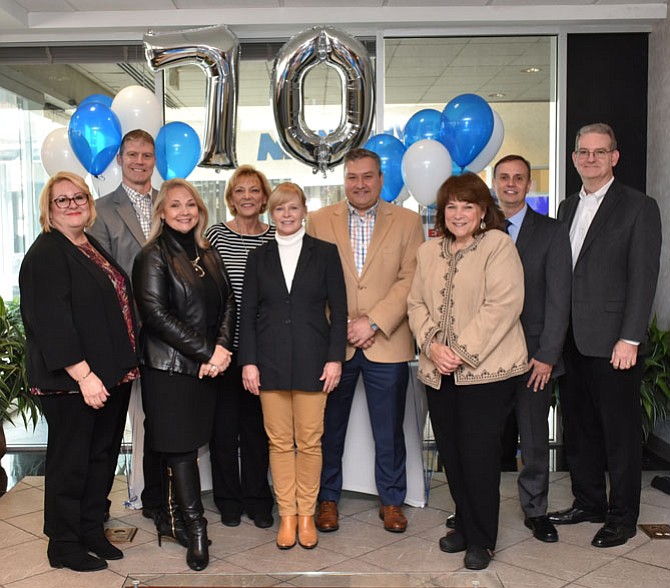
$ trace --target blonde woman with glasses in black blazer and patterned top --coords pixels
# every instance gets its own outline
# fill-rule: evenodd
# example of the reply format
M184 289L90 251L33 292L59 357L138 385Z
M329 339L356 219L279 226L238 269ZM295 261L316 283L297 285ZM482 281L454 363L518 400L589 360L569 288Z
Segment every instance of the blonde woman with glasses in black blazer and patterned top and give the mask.
M23 259L19 286L28 382L49 425L47 555L56 568L101 570L123 557L105 538L103 519L139 377L130 280L84 233L95 205L80 176L50 178L39 208L42 233Z

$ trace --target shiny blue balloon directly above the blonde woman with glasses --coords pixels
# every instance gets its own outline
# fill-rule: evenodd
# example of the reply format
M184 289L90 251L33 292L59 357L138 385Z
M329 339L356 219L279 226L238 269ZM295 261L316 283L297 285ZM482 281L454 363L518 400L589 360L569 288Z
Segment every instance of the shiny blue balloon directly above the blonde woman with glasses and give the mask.
M100 102L79 106L70 119L67 134L77 159L94 176L107 169L122 138L118 117Z

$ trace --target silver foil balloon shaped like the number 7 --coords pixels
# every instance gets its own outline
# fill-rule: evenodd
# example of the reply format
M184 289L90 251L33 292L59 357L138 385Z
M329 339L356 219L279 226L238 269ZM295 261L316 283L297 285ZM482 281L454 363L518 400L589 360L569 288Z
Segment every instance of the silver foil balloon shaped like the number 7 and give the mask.
M205 132L201 167L237 167L235 127L240 43L226 26L144 35L153 71L197 65L206 76Z

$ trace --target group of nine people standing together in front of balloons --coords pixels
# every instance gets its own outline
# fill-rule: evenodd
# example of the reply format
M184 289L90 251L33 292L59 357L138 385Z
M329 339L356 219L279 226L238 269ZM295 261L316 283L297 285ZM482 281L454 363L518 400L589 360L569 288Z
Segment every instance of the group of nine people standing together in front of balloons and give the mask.
M452 176L437 193L439 236L427 242L418 214L380 198L381 162L366 149L345 157L346 198L309 215L300 186L271 190L240 166L225 191L232 218L209 228L189 182L151 188L144 131L123 138L122 184L97 206L82 178L56 174L19 278L28 378L49 425L51 565L92 571L123 557L104 521L131 390L145 414L143 514L159 544L169 536L186 547L192 569L209 561L197 462L207 443L224 525L243 513L274 524L269 467L278 548L311 549L317 530L339 528L359 378L379 517L404 532L403 420L417 351L456 505L443 551L465 552L475 570L493 557L512 411L533 535L555 542L556 524L603 522L593 545L624 543L639 514L639 384L661 227L655 201L614 180L618 158L607 125L579 131L583 187L560 220L527 205L521 156L496 163L497 202L477 175ZM556 377L575 502L548 513Z

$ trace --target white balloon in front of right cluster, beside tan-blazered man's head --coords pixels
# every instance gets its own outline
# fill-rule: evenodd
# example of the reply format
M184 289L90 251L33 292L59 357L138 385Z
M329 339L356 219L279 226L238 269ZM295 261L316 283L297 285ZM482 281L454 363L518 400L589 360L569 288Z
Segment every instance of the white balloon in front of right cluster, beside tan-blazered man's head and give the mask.
M412 143L402 158L402 177L414 199L433 204L437 190L451 175L451 155L439 141L421 139Z

